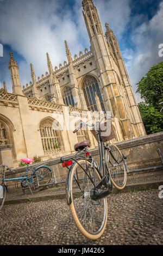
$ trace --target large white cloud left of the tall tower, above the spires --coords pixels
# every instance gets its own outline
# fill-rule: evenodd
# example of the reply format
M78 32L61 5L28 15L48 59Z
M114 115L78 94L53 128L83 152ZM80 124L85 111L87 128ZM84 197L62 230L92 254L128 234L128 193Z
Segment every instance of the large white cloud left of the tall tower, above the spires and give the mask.
M65 39L72 55L83 49L79 40L80 31L73 21L72 13L66 2L64 8L61 8L62 4L57 0L7 0L1 7L2 43L10 45L26 60L19 63L22 85L30 80L30 63L33 63L36 77L48 70L46 52L51 57L53 67L67 60ZM6 66L8 69L8 63ZM5 73L4 80L9 82L9 71Z

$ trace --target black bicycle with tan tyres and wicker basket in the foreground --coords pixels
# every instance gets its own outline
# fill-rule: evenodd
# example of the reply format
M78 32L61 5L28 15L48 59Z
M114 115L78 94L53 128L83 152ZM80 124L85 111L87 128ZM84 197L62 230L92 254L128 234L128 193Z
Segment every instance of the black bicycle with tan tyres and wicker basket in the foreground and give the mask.
M104 118L106 121L102 124ZM126 186L127 164L126 156L121 154L116 145L104 144L106 140L109 141L114 137L111 117L104 116L101 122L96 122L94 125L81 122L74 133L84 125L91 126L93 135L97 136L99 168L88 151L89 141L74 145L77 154L66 160L61 157L60 162L63 167L68 168L66 199L73 220L84 236L96 240L102 236L106 227L108 218L106 196L112 192L112 185L119 190Z

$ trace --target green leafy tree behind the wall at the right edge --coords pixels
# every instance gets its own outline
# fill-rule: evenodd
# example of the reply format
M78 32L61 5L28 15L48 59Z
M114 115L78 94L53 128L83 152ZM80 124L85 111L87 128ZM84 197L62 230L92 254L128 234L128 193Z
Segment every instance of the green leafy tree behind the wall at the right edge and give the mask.
M163 62L148 71L138 83L136 92L144 102L138 104L147 134L163 131L163 111L159 105L163 101Z

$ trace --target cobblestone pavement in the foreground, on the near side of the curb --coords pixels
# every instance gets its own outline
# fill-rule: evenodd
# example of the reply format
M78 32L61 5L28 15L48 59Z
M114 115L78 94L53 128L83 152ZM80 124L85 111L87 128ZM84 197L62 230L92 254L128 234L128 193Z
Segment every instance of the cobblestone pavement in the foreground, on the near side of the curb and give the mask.
M158 190L108 196L103 236L86 239L65 199L4 205L0 245L163 245L163 199Z

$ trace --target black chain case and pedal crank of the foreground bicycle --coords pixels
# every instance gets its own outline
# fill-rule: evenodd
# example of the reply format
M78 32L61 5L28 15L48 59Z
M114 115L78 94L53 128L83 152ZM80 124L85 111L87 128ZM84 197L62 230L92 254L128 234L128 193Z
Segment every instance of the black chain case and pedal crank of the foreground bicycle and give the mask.
M104 176L95 188L90 191L90 197L96 201L98 199L108 196L112 192L112 183L109 176Z

